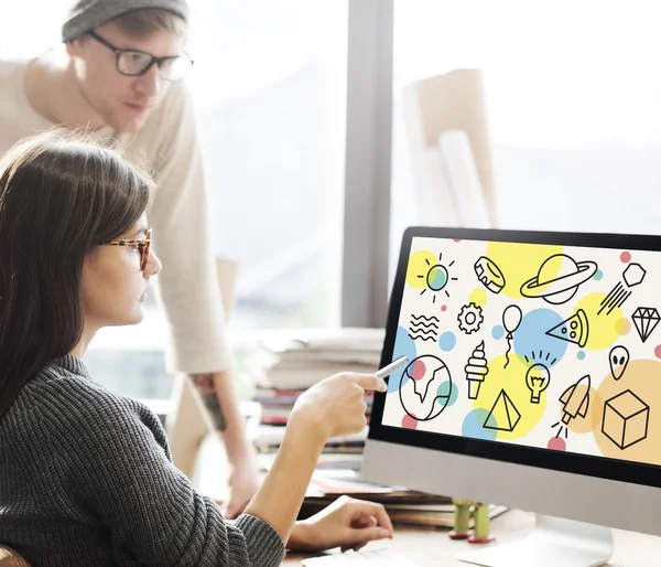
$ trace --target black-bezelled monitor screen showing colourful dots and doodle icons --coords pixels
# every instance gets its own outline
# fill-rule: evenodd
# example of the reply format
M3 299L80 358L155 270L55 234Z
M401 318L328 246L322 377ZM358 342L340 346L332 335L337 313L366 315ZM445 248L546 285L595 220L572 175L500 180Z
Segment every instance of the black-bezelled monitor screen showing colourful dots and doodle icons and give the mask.
M661 485L655 237L411 228L370 437Z

